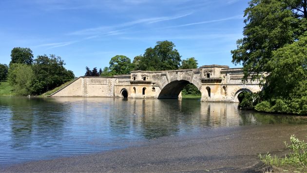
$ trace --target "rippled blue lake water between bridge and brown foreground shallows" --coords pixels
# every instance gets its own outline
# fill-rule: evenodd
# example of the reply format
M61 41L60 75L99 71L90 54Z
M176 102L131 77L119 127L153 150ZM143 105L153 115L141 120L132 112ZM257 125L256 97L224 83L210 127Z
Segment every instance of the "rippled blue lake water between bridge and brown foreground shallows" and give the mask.
M304 117L237 106L197 99L0 97L0 167L137 146L203 128L307 124Z

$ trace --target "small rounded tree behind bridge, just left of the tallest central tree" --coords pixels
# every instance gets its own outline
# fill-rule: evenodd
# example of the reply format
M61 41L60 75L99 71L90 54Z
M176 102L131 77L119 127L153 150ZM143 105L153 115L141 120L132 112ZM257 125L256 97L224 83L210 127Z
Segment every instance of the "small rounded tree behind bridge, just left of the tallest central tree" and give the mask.
M114 75L130 74L134 69L134 65L131 63L130 58L123 55L116 55L111 58L109 64L110 71Z

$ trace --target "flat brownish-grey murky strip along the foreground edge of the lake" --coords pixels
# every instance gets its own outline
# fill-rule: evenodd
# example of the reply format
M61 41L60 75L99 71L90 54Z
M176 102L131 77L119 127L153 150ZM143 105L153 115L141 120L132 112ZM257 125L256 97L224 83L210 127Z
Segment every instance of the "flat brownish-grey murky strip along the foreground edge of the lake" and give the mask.
M307 139L307 125L204 129L103 153L17 164L0 172L256 172L259 153L285 154L283 141Z

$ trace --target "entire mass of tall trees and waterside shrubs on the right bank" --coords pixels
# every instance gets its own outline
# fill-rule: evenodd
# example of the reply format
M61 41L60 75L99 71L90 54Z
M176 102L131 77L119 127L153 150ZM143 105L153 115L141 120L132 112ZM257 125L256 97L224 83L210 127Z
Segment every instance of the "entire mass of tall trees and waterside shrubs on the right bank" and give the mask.
M307 0L250 0L245 17L232 62L243 65L245 80L256 72L251 78L261 80L263 90L244 104L307 115Z

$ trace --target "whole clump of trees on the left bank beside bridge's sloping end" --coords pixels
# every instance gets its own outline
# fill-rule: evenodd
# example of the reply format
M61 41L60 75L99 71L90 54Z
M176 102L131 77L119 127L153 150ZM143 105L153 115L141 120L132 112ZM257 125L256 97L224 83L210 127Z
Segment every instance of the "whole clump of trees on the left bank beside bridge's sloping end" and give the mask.
M61 57L39 55L34 59L30 48L15 47L9 66L0 64L0 80L7 79L19 95L40 95L75 78L64 65Z

